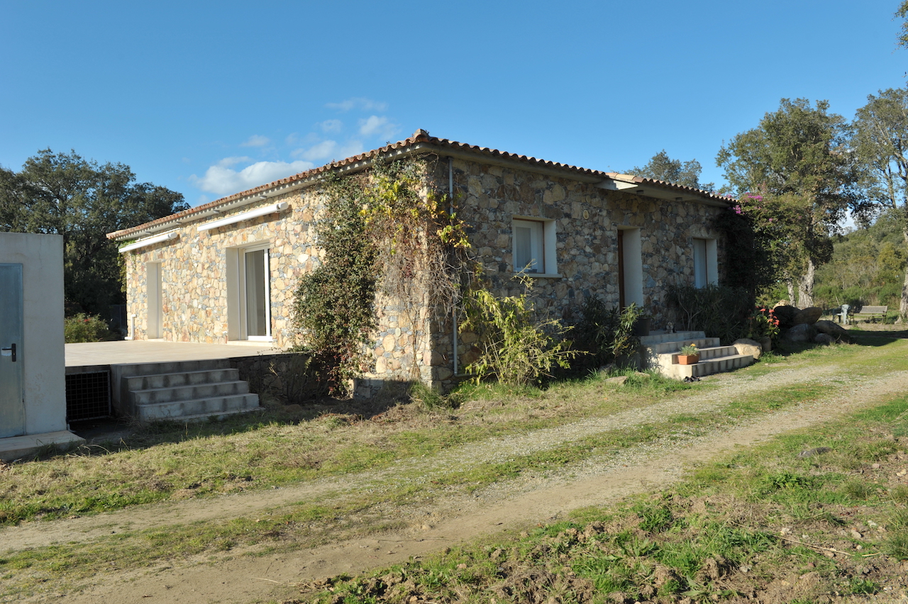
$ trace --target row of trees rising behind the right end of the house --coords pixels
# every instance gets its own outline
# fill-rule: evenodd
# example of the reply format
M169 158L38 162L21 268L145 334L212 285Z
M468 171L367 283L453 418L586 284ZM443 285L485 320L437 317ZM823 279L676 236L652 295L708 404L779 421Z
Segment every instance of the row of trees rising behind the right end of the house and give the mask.
M817 269L833 258L832 237L846 212L863 227L881 215L908 246L908 90L870 94L851 122L829 102L782 99L755 128L736 134L716 156L771 271L756 287L785 284L798 307L814 306ZM699 182L700 164L657 153L631 173L711 190ZM900 314L908 315L908 270Z

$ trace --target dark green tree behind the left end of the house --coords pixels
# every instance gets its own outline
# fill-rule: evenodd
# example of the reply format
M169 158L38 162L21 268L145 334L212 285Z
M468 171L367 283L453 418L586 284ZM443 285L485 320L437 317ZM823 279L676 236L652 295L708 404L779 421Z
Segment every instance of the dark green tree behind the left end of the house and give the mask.
M123 301L117 245L106 238L187 209L183 194L135 182L129 166L50 149L19 172L0 167L0 230L64 238L64 295L71 312L105 316Z

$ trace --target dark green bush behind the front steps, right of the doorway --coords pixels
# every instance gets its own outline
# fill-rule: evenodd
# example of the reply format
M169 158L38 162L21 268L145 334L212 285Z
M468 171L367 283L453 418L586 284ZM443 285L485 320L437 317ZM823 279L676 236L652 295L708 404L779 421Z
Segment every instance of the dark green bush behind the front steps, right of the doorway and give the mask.
M718 337L726 346L746 336L754 308L746 289L716 285L669 287L667 302L675 310L676 327Z

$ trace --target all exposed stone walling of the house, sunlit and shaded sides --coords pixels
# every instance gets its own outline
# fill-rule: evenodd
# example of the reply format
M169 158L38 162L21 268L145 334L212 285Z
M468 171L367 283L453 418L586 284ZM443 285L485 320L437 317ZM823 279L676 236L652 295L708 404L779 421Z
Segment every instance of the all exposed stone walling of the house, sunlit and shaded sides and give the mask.
M446 190L448 161L429 163ZM434 168L431 168L434 166ZM710 228L721 209L696 202L656 200L598 188L568 178L528 170L453 160L455 203L469 224L469 239L479 253L485 276L498 294L522 291L514 277L513 217L540 219L554 226L558 277L534 278L537 307L552 317L572 321L589 296L618 304L617 231L639 229L643 263L643 302L662 326L666 288L692 283L693 239L720 239ZM199 231L207 221L287 201L278 214ZM226 343L237 338L228 320L232 301L228 254L267 244L271 265L271 331L277 347L295 341L291 326L293 290L299 278L320 261L315 220L323 205L316 187L286 193L225 214L187 223L180 237L127 254L127 298L131 335L148 337L146 264L160 262L163 280L163 339L175 342ZM721 249L721 246L720 246ZM550 273L547 269L547 274ZM430 317L427 308L409 308L400 300L377 299L379 328L372 353L374 371L365 376L360 395L386 380L421 379L448 386L455 379L449 317ZM235 324L236 320L232 320ZM475 358L475 336L459 337L459 368Z

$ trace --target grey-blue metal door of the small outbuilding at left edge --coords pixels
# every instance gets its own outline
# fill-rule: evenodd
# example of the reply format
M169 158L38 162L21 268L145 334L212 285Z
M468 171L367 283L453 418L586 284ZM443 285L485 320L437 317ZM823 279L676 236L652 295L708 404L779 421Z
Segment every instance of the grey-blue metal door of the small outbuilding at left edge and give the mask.
M0 264L0 438L25 434L22 265Z

